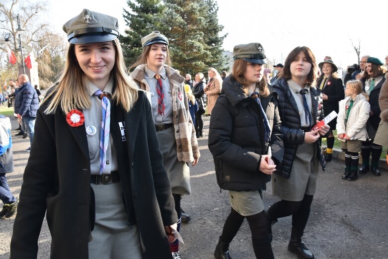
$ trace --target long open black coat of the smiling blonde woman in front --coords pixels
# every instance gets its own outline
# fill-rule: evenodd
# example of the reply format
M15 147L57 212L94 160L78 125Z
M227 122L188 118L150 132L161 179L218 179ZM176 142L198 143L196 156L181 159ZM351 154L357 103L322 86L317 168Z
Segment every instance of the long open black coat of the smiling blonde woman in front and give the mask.
M46 105L37 113L13 225L10 259L36 259L46 210L52 236L50 258L88 259L94 215L89 213L90 160L85 125L71 127L61 111L44 114ZM128 224L137 224L143 259L172 259L163 225L174 224L177 216L150 102L139 91L129 113L113 101L111 113L110 129ZM122 121L126 125L124 136L118 124ZM123 150L125 156L120 155Z

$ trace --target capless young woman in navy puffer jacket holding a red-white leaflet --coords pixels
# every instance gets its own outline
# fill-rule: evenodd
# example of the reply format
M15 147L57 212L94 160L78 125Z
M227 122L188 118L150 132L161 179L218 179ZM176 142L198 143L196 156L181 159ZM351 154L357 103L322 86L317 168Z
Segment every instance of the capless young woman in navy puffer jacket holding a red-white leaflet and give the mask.
M321 163L323 170L326 165L317 140L330 129L324 125L311 130L324 118L320 91L314 86L315 75L316 63L311 50L297 47L287 56L280 80L272 85L279 95L284 157L281 173L272 175L273 194L281 201L269 208L267 220L270 229L278 218L292 215L288 250L300 259L314 258L302 243L302 236L316 189L318 164Z

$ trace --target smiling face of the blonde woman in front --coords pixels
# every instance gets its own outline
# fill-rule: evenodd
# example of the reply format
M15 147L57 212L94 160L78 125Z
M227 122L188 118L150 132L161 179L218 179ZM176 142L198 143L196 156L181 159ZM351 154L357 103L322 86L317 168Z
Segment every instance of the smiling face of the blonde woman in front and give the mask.
M79 67L94 85L105 87L115 64L116 49L112 41L76 44Z

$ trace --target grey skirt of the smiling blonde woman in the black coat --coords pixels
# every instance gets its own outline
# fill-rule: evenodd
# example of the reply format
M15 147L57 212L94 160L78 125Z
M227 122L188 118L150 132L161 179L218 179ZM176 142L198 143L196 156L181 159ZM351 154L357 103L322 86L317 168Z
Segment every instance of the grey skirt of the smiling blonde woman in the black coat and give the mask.
M142 259L139 232L128 226L121 183L91 184L95 195L95 225L90 259Z

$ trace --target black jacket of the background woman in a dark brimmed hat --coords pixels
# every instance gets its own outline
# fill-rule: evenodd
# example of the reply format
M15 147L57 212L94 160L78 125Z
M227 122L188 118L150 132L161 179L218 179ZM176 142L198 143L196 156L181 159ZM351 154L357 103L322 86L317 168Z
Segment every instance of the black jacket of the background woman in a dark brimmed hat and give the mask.
M319 79L316 83L317 86L320 86L322 79ZM344 86L342 84L342 79L340 78L331 78L326 81L326 86L323 86L321 89L322 93L326 94L328 99L323 100L323 113L328 115L330 112L335 111L338 114L338 105L339 101L345 98ZM333 119L329 124L330 130L335 130L337 125L337 119Z

